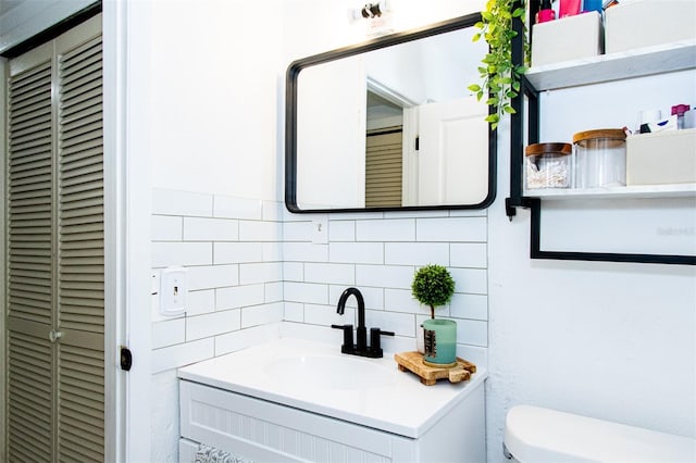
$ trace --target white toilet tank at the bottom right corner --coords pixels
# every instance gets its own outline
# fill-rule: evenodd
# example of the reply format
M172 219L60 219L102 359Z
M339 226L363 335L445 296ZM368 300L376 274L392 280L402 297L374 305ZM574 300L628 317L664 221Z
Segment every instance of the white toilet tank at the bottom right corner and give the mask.
M521 463L696 462L696 439L530 405L508 412L505 447Z

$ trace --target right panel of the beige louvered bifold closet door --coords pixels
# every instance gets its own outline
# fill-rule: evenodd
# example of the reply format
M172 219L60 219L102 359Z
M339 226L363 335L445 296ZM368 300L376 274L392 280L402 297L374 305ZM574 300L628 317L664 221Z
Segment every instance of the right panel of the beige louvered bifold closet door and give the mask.
M59 40L59 452L104 448L104 228L101 38Z

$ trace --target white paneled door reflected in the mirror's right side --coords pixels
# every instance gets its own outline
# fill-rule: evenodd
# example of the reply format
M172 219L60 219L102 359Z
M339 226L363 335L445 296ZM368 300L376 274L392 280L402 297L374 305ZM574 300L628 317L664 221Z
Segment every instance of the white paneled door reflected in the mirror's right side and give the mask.
M488 107L476 98L422 104L419 111L418 202L475 204L488 185ZM412 163L409 163L412 165Z

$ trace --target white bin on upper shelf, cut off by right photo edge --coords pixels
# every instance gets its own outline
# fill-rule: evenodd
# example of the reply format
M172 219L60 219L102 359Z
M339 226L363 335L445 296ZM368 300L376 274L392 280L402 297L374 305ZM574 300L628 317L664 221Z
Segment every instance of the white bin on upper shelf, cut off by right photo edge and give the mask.
M696 1L643 0L605 12L607 53L696 38Z

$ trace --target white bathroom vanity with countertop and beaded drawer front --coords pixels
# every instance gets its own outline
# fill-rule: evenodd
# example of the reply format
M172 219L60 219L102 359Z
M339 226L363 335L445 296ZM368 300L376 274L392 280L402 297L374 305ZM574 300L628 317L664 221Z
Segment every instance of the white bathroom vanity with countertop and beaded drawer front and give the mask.
M199 443L262 462L486 461L484 380L424 386L393 354L282 338L178 371L179 460Z

